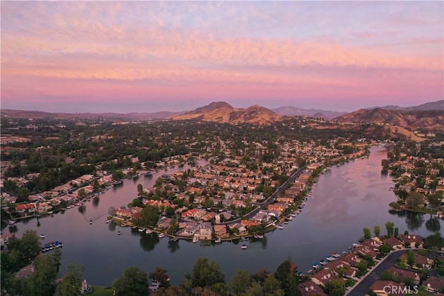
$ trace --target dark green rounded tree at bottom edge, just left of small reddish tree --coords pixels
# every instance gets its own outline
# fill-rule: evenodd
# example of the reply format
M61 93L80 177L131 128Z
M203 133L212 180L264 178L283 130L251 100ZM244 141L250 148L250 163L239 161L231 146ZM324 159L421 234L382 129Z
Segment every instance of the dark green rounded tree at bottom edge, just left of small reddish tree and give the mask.
M148 275L144 270L137 267L127 268L123 274L112 281L114 295L116 296L139 296L148 294Z

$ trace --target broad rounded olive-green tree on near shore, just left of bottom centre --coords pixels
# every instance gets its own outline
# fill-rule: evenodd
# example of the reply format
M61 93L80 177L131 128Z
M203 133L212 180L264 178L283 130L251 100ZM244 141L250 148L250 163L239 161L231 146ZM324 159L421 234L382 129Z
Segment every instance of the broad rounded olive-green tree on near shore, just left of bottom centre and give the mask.
M212 286L218 283L225 284L225 275L221 272L219 263L208 262L207 258L196 259L190 279L193 288Z

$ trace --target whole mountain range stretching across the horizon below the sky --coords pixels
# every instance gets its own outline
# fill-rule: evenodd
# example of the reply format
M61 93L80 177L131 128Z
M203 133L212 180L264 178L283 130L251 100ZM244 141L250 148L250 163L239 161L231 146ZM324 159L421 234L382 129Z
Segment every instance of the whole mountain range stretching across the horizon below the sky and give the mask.
M103 119L171 119L171 120L196 120L214 121L219 123L253 123L271 124L282 121L288 116L311 116L336 122L351 123L379 123L396 125L409 130L421 128L425 130L444 131L444 100L425 103L412 107L400 107L388 105L385 107L371 107L355 112L331 112L317 109L301 109L298 107L279 107L269 110L259 105L248 108L234 108L225 102L213 102L210 105L198 107L189 112L133 112L119 113L50 113L40 111L1 110L1 117L9 118L103 118Z

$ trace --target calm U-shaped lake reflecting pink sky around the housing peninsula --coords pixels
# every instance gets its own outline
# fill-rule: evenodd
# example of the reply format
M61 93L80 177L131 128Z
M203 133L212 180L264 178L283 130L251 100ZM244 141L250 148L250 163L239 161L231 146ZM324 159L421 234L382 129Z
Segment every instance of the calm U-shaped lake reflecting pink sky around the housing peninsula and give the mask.
M307 272L314 262L332 252L347 250L363 235L364 227L370 227L373 232L373 226L380 225L384 234L384 224L392 221L400 233L409 230L428 236L435 231L442 232L443 220L429 221L429 215L398 216L388 212L388 203L396 197L388 190L393 186L390 177L380 174L381 159L385 156L384 148L373 147L366 159L330 168L319 178L301 214L284 229L267 233L264 240L249 241L247 250L241 250L241 243L231 242L201 245L180 240L170 245L168 238L159 239L156 234L140 234L128 227L105 223L109 207L128 204L137 195L137 184L151 188L164 171L149 178L125 180L121 186L101 194L99 200L87 202L83 213L74 208L65 214L40 218L38 222L32 219L16 225L19 235L26 229L36 229L37 233L46 235L44 242L62 241L60 274L65 274L70 263L78 263L85 266L84 278L96 285L110 286L129 266L150 272L157 265L167 268L172 284L180 284L198 257L220 263L227 281L238 269L274 271L288 256L299 271ZM169 172L173 171L176 170ZM94 223L89 225L89 220ZM117 230L121 231L120 236Z

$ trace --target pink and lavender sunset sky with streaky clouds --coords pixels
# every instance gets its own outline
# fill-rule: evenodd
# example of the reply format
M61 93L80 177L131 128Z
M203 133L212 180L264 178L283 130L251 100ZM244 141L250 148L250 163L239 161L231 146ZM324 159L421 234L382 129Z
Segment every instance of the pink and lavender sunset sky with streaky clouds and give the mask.
M444 1L1 1L1 108L295 106L444 98Z

